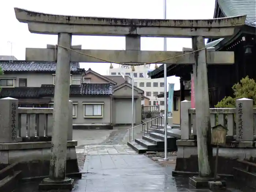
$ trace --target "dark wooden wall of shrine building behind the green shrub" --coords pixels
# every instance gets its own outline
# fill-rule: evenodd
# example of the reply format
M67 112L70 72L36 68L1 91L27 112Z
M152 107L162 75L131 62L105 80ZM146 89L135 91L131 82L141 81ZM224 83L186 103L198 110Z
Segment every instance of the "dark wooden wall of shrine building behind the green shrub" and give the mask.
M245 76L256 80L256 46L251 35L244 35L247 40L241 42L241 38L234 42L233 48L224 48L223 51L234 51L235 63L233 65L208 65L208 87L210 107L214 107L225 96L233 97L232 86ZM255 39L255 38L254 38ZM240 41L240 43L238 43ZM238 43L238 44L237 44ZM252 53L245 53L246 46L252 45Z

